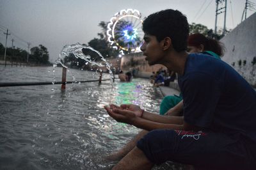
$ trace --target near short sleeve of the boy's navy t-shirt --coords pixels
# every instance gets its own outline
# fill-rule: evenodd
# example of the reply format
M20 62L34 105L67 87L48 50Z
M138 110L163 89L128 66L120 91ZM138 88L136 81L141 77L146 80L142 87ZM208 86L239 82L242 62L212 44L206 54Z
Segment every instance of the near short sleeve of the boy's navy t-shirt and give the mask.
M190 73L183 81L184 121L209 128L220 99L220 83L205 73Z

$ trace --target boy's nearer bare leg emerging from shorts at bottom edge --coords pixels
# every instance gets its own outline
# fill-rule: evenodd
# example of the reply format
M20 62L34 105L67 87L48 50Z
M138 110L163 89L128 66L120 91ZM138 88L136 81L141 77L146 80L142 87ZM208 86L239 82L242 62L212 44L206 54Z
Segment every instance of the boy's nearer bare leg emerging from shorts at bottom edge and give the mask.
M135 147L113 169L151 169L152 166L154 164L148 160L143 151Z

